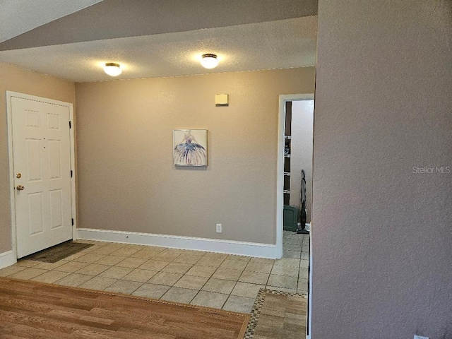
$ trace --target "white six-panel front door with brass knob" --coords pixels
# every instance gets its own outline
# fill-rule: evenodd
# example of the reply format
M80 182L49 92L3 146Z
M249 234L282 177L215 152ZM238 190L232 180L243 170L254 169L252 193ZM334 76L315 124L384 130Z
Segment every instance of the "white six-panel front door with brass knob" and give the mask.
M18 258L72 239L69 115L11 97Z

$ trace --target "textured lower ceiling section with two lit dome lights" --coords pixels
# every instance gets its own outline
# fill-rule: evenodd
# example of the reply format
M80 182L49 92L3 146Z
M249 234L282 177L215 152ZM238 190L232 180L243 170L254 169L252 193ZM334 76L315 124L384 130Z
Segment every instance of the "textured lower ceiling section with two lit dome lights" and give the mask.
M0 52L0 61L76 82L112 80L102 63L124 65L117 78L314 66L316 16L140 37L78 42ZM218 54L203 69L198 58Z

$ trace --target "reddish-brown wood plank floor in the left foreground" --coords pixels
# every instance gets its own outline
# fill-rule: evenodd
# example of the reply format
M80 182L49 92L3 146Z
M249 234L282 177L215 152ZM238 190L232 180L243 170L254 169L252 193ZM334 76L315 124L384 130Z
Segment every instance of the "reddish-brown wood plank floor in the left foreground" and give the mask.
M242 339L249 314L0 278L0 338Z

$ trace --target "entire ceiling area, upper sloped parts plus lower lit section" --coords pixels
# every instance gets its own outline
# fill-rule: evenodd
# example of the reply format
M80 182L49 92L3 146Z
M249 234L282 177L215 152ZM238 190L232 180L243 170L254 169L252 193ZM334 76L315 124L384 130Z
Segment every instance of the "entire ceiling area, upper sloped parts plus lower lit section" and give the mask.
M0 0L0 61L76 82L314 66L316 13L317 0Z

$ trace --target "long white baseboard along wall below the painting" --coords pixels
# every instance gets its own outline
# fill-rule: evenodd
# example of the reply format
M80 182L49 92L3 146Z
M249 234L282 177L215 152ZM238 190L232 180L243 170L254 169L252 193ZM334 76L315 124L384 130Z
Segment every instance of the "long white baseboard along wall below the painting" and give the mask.
M176 235L124 232L112 230L77 229L78 239L97 240L100 242L122 242L148 246L162 246L172 249L191 249L210 251L239 256L256 256L259 258L277 258L276 245L257 244L254 242L234 242L230 240L180 237Z

